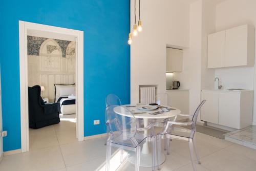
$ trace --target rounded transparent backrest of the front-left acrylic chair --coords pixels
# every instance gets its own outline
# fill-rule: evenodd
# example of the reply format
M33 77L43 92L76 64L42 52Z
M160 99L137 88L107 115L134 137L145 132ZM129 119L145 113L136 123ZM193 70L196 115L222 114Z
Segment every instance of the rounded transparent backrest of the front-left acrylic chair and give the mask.
M106 107L105 120L112 140L119 142L131 140L137 133L136 119L124 106L110 105Z

